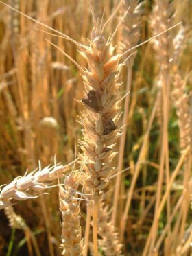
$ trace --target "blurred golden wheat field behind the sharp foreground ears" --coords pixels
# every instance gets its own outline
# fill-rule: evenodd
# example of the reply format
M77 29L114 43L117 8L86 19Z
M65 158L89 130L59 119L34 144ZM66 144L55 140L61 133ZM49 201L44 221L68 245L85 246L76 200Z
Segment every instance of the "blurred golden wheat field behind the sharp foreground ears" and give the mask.
M3 2L80 43L88 44L86 39L90 38L93 22L86 0ZM119 5L117 0L91 3L99 20L104 13L104 22ZM128 72L131 72L121 170L130 169L121 174L116 225L121 232L119 223L125 212L125 195L135 178L128 224L123 235L123 252L125 255L142 255L156 213L158 184L164 193L182 152L191 145L192 1L130 0L124 1L122 6L124 9L119 8L104 32L108 38L130 6L128 20L119 26L113 40L117 53L182 22L160 38L136 49L121 75L122 97L128 83ZM56 155L58 163L70 163L75 157L75 143L81 138L81 126L77 120L82 106L75 99L83 97L82 77L71 60L45 38L69 54L83 69L86 62L69 40L40 30L53 33L0 3L0 185L23 176L26 170L35 170L39 160L45 167L53 164ZM123 37L124 32L128 39ZM125 111L124 102L122 109ZM170 187L167 205L160 214L157 237L165 228L169 235L159 242L159 254L156 255L190 253L190 159L191 156L180 167ZM140 162L138 174L134 176L135 166ZM115 178L108 188L110 207L114 187ZM177 213L170 219L184 189L187 191L184 204L180 203ZM0 255L60 255L57 188L51 189L49 196L17 202L10 214L14 218L11 226L11 217L8 218L6 211L0 211ZM85 206L82 203L83 233L84 225ZM181 241L184 244L180 244ZM168 248L167 243L172 247ZM187 246L187 251L183 251L186 254L181 253L182 246Z

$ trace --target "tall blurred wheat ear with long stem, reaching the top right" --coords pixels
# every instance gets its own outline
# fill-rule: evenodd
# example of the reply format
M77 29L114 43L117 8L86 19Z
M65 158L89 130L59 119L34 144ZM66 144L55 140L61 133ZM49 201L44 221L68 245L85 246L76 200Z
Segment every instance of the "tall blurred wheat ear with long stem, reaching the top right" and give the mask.
M168 0L159 1L156 0L153 8L152 15L152 27L154 34L160 33L170 27L174 22L174 6L173 2ZM166 183L169 184L170 174L169 174L169 141L168 141L168 121L169 121L169 98L171 90L171 80L170 73L173 72L174 65L178 65L179 47L178 54L174 56L173 42L176 36L176 30L169 30L154 40L154 49L156 51L156 60L160 63L158 67L159 71L159 81L158 84L161 86L161 92L159 97L162 97L162 102L160 106L160 116L162 116L162 143L160 148L160 167L158 172L158 189L156 194L156 205L154 212L154 223L153 223L153 236L149 248L149 253L154 250L154 244L156 241L158 222L156 215L158 213L160 198L162 194L163 178L165 173ZM160 100L158 101L159 103ZM167 222L169 222L168 236L171 235L171 198L167 198ZM146 247L145 247L146 248Z

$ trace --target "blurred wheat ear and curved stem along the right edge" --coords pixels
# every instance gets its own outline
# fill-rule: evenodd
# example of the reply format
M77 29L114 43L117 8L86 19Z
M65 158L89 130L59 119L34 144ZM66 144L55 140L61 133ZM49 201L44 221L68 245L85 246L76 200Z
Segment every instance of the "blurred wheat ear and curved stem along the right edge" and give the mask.
M186 93L187 78L182 80L180 73L173 76L173 94L176 100L176 113L178 115L178 125L180 130L180 150L184 150L188 146L191 148L191 113L190 113L190 97ZM183 176L183 187L186 191L182 206L180 207L180 226L178 239L175 242L174 251L178 251L180 247L180 240L184 235L186 229L187 214L190 207L190 186L189 180L191 177L191 154L186 159L184 168L182 170ZM178 246L177 246L178 244Z

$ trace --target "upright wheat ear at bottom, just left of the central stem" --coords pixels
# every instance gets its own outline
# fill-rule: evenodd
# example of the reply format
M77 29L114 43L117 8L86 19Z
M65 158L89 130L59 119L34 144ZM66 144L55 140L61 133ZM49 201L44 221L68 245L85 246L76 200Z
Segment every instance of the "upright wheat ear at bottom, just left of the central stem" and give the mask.
M77 189L80 175L70 174L59 187L60 211L62 213L62 255L83 255L82 231L80 226L80 202Z

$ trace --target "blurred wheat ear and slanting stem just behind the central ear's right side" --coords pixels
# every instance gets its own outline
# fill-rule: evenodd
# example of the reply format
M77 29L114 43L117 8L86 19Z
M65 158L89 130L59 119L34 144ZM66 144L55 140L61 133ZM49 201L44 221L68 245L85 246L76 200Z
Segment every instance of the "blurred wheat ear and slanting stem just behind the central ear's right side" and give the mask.
M126 49L131 49L134 47L140 38L140 30L141 30L141 14L142 14L142 4L138 3L137 0L129 0L123 1L123 5L121 7L121 15L125 14L125 11L129 7L128 14L123 19L121 25L121 36L119 43L119 51L123 53ZM126 83L126 91L125 93L130 92L131 84L132 84L132 66L134 64L134 58L136 56L136 52L130 56L128 61L126 62L127 66L127 83ZM116 186L115 186L115 194L113 200L112 207L112 223L115 224L116 216L117 216L117 205L119 200L119 188L121 185L121 170L123 167L123 156L124 156L124 148L125 148L125 139L126 139L126 129L127 129L127 119L128 119L128 109L130 103L130 93L125 97L124 104L124 114L123 114L123 129L122 136L119 146L119 157L118 157L118 174L116 178Z

